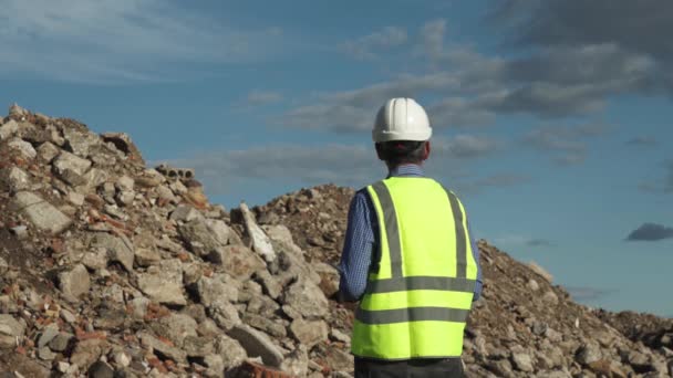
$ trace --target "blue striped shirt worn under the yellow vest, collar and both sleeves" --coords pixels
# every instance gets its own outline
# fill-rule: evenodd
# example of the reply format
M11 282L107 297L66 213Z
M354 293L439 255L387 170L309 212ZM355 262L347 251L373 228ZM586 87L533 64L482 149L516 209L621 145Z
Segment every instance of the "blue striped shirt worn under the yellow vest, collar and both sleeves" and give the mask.
M389 177L424 177L423 170L416 165L403 165L391 170ZM349 224L343 242L343 253L339 271L341 281L339 292L344 301L359 301L364 294L366 279L372 263L372 255L377 248L379 221L372 199L366 188L359 190L349 209ZM468 233L469 223L467 224ZM477 285L473 301L479 298L482 293L482 267L479 265L479 250L474 238L470 240L472 251L477 262Z

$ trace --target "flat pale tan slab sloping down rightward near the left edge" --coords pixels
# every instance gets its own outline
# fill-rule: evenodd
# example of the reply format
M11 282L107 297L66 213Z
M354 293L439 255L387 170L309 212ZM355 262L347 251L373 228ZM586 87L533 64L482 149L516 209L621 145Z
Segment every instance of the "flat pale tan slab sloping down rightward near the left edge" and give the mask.
M65 231L72 224L72 219L38 195L29 191L20 191L14 195L10 203L10 211L21 212L38 230L52 235Z

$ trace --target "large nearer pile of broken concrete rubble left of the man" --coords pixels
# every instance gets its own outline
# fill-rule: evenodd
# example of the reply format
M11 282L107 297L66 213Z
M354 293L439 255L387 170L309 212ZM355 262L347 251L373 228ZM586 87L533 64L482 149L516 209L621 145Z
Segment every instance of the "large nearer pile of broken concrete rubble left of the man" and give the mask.
M127 135L14 105L0 190L0 371L348 376L320 288L336 272L245 204L232 222L193 170L147 168Z

